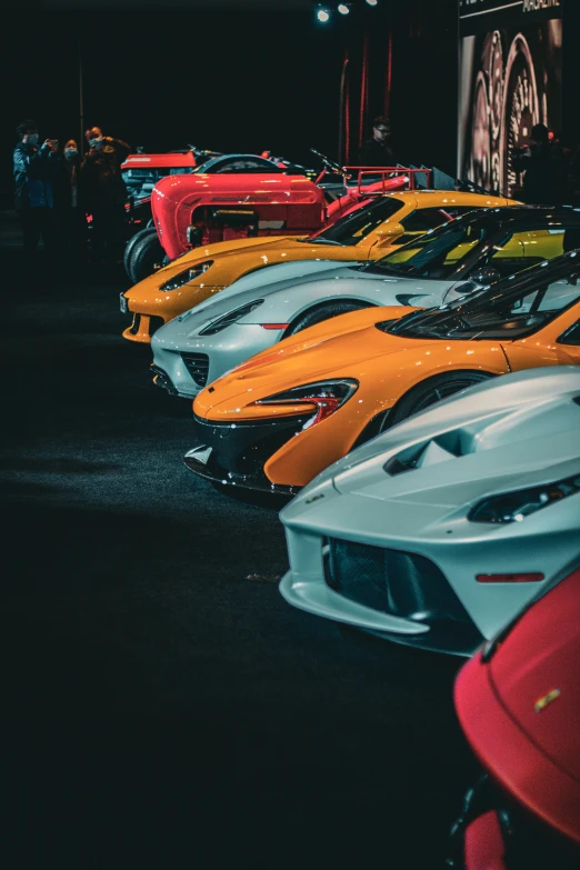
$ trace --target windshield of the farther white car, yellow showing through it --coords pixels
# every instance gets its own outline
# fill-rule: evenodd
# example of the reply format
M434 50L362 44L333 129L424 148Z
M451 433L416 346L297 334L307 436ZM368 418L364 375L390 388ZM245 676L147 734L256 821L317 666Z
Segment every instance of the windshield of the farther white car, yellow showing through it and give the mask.
M364 266L366 271L400 274L407 278L451 279L471 254L484 249L498 232L500 216L478 214L457 218L424 236L403 244L393 253Z

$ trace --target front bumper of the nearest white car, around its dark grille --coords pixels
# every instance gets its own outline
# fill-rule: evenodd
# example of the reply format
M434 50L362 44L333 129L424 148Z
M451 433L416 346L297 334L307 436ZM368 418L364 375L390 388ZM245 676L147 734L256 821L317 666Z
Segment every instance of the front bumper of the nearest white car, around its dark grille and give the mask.
M573 531L482 529L453 508L339 493L332 479L302 491L281 520L290 570L280 592L290 604L461 656L501 630L578 550ZM544 580L476 579L528 571Z

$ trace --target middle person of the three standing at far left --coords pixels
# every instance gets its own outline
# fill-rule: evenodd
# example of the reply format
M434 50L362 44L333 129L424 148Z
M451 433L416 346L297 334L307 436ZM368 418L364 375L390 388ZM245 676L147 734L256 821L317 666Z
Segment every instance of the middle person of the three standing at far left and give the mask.
M69 139L62 149L60 173L54 184L54 207L63 252L74 266L84 262L87 257L87 217L79 177L79 148L76 139Z

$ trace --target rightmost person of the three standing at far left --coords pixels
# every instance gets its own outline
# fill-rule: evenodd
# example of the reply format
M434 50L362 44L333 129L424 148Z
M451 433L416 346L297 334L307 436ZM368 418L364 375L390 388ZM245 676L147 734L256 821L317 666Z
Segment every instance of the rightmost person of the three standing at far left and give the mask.
M121 139L103 136L100 127L86 132L89 151L80 167L82 203L92 216L94 259L120 261L126 241L124 203L127 188L121 164L131 147Z

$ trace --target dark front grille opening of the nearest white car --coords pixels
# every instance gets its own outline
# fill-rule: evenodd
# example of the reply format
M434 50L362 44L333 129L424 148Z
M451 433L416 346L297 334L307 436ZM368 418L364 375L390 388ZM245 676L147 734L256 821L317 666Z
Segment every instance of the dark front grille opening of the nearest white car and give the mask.
M442 571L423 556L328 539L328 586L359 604L423 622L470 622Z

